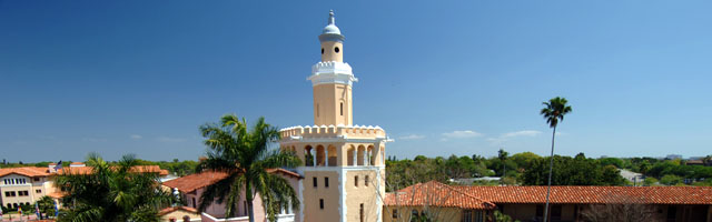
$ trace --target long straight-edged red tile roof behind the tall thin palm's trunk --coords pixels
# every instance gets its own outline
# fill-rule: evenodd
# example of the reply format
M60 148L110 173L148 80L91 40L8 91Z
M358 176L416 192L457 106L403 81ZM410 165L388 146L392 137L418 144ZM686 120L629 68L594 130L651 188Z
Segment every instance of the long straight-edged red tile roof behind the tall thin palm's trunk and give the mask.
M454 186L494 203L544 203L546 186ZM552 203L712 204L710 186L552 186Z

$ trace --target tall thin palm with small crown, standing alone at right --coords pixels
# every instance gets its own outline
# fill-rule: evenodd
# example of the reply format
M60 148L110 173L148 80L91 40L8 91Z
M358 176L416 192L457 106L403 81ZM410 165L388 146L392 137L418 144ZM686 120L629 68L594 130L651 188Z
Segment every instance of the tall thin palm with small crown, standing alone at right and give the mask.
M556 125L558 122L564 121L564 115L571 112L571 107L566 105L565 98L553 98L548 102L544 102L544 107L540 112L546 119L548 127L553 128L552 132L552 153L548 162L548 184L546 186L546 206L544 208L544 221L548 221L548 195L552 190L552 170L554 168L554 138L556 137Z

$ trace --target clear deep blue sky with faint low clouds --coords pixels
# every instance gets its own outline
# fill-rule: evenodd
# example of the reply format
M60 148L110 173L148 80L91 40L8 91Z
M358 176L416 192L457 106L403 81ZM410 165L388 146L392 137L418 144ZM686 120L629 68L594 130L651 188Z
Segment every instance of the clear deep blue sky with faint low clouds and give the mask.
M0 1L0 158L197 159L226 113L313 124L329 9L387 154L712 154L710 1Z

